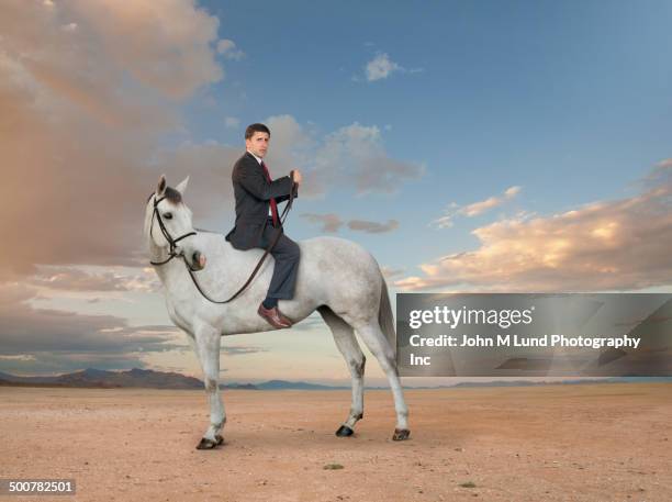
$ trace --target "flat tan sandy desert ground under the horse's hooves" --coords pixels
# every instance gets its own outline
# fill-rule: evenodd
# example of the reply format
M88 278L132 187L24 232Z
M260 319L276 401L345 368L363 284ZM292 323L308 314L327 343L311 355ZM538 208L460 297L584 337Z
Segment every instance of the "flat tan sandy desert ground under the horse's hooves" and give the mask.
M0 478L76 479L41 501L672 500L667 383L408 390L401 443L388 391L346 438L349 392L223 395L201 451L204 392L0 388Z

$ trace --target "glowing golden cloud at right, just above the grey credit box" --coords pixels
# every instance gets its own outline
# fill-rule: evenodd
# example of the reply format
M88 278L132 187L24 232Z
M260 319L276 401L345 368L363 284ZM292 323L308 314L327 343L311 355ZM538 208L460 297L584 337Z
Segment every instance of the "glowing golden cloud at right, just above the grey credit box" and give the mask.
M421 265L406 290L638 290L670 285L672 179L659 172L639 194L548 217L504 220L473 231L475 250Z

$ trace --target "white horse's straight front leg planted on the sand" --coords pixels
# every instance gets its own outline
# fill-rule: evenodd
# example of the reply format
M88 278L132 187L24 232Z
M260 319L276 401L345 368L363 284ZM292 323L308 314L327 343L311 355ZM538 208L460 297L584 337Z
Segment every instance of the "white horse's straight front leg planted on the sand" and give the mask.
M226 412L220 397L220 345L219 330L203 324L194 330L194 349L203 369L203 383L210 401L210 427L198 444L198 449L211 449L224 442L220 435L226 422Z

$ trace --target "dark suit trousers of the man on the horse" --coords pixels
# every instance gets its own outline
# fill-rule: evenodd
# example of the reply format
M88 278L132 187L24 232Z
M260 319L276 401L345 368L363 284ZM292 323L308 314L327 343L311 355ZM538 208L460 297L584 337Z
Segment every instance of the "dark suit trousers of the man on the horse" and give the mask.
M273 220L269 216L261 234L260 247L267 249L277 232L278 228L273 227ZM268 287L267 297L290 300L294 297L294 286L299 271L299 258L301 257L299 245L284 235L284 231L282 231L270 254L276 260L276 266L273 267L273 276Z

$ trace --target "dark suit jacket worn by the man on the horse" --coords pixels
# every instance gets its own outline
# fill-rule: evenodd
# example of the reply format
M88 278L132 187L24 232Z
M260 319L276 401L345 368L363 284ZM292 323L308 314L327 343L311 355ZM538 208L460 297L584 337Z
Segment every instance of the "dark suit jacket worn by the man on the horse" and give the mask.
M229 241L236 249L259 247L270 200L271 198L276 199L276 202L288 200L292 179L283 176L269 182L264 168L249 152L236 161L231 179L236 198L236 224L226 235L226 241ZM298 197L295 186L294 197Z

